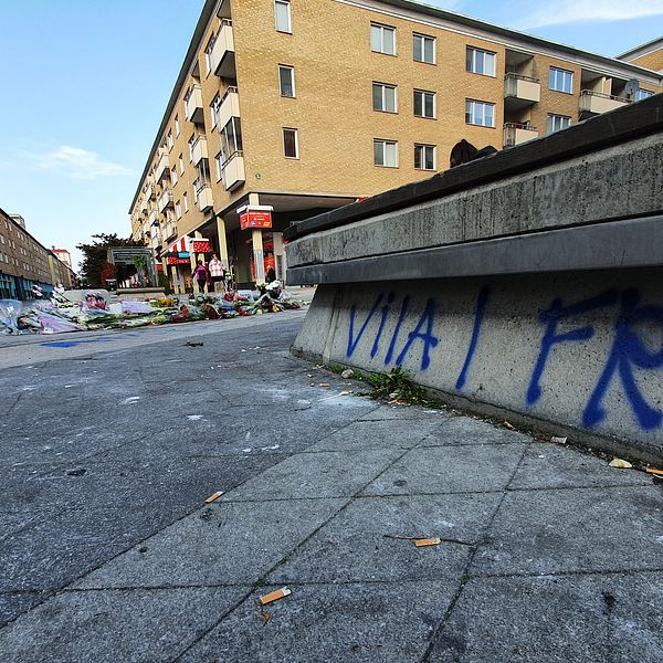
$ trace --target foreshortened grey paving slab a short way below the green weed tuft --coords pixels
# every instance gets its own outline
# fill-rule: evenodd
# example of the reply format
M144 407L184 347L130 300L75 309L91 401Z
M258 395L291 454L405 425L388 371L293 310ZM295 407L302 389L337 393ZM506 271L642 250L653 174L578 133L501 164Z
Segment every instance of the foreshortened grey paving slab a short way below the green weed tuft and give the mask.
M307 451L351 451L385 446L408 449L419 444L436 427L438 421L429 419L356 421L309 446Z

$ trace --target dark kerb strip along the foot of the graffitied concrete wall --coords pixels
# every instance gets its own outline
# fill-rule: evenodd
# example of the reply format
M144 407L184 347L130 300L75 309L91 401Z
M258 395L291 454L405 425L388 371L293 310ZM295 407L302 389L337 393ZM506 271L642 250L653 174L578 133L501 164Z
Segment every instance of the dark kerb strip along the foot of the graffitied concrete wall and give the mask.
M351 368L355 373L361 376L380 375L376 371L370 371L365 368L359 368L343 361L329 361L318 352L311 352L292 346L291 354L298 359L309 361L312 364L322 364L326 368L338 366L343 368ZM551 436L569 438L569 448L579 446L582 451L600 451L609 455L615 455L623 459L629 459L638 464L655 463L663 465L663 450L655 446L644 445L635 440L622 438L611 438L589 433L586 430L578 429L568 424L556 423L530 414L524 414L507 408L498 408L490 403L474 401L456 393L449 393L441 389L433 389L425 385L420 385L427 393L435 401L442 403L446 408L459 410L463 414L475 414L492 421L495 424L508 420L518 431L530 434L535 438L540 438L545 441L550 441Z

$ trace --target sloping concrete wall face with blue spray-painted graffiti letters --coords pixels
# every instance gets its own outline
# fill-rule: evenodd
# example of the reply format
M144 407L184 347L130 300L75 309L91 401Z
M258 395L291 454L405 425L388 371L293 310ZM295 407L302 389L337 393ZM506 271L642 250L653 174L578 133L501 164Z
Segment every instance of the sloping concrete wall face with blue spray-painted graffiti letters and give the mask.
M655 462L662 283L652 270L320 286L294 350L375 372L402 366L456 404Z

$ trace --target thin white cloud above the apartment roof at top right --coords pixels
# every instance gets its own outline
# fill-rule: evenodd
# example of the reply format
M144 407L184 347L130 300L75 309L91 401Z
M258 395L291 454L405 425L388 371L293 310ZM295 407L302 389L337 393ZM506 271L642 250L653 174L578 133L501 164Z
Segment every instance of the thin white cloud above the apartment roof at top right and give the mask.
M529 29L587 21L628 21L661 14L663 0L546 0L535 11L523 11L514 27Z

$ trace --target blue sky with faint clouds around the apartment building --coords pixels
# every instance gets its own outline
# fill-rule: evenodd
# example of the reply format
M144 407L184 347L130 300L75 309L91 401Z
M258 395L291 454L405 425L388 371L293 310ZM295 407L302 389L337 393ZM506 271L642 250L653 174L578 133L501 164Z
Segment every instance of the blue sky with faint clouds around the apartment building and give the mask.
M0 208L74 264L93 234L130 234L128 209L203 3L0 0ZM611 56L663 35L663 0L427 3Z

